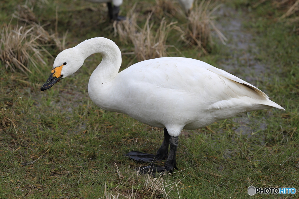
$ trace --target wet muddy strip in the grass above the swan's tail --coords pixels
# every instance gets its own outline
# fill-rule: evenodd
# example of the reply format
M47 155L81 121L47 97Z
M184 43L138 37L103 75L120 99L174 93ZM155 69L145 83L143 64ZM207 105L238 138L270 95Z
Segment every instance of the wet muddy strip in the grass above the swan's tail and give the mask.
M257 80L270 72L270 68L256 58L260 50L254 43L252 33L244 27L250 22L250 17L245 11L225 5L215 15L218 16L216 27L228 39L227 45L222 47L226 58L220 61L219 67L255 85Z

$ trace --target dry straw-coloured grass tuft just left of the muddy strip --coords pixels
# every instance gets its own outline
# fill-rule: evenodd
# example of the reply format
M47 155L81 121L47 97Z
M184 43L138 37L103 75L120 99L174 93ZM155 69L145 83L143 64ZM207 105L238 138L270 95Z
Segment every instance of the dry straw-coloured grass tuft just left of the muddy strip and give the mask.
M197 45L206 53L205 48L211 42L211 29L213 29L221 42L225 44L225 36L214 25L212 13L220 7L211 4L211 0L201 1L200 4L195 2L195 7L191 10L188 19L188 25L183 35L184 41L191 45Z

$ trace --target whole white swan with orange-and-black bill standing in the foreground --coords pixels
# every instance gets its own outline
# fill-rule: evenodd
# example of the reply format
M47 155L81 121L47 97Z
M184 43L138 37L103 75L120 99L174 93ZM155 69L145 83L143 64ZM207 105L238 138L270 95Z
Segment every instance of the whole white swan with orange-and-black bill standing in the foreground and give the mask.
M253 85L196 59L150 59L118 73L120 50L106 38L88 39L63 50L41 90L76 72L93 53L101 53L103 59L89 79L91 100L104 110L124 113L147 125L164 128L164 141L157 155L138 151L127 154L138 161L162 160L168 156L158 172L176 168L176 149L182 129L205 127L249 111L284 110Z

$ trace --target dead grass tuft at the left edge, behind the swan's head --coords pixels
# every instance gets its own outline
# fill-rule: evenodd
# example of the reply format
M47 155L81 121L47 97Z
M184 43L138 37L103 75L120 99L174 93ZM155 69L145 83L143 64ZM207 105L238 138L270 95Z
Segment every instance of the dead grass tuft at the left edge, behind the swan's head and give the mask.
M60 50L65 48L66 34L63 36L62 43L57 34L49 34L43 27L35 22L29 22L18 16L13 16L21 21L24 25L11 25L4 23L1 27L0 40L0 60L4 63L7 70L15 72L17 69L23 73L32 73L30 65L40 73L39 68L46 65L44 56L45 52L51 58L54 57L44 48L45 45L55 45Z

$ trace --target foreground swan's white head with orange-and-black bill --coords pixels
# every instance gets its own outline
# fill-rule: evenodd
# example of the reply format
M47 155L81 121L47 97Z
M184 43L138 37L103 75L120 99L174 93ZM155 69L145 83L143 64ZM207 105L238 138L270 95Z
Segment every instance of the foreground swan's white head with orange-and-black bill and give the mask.
M57 55L51 70L51 75L40 90L45 91L59 82L60 79L76 72L83 65L84 60L76 48L63 50Z

